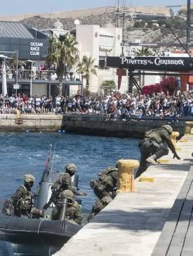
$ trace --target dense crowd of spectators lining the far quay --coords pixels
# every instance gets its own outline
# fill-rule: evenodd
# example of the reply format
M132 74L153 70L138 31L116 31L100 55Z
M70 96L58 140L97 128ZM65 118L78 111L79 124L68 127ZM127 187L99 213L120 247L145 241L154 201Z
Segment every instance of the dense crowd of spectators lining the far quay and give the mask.
M171 122L178 122L179 117L193 117L193 92L185 91L173 96L164 93L149 96L140 92L120 94L116 91L100 97L0 95L0 114L15 113L16 109L27 114L104 115L106 121L119 118L126 121L141 117L168 117Z

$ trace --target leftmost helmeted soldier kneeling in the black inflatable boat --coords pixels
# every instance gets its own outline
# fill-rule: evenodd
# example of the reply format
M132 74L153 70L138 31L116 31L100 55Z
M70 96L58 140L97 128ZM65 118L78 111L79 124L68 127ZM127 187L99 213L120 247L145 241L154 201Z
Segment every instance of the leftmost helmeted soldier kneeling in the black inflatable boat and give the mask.
M19 186L11 199L4 203L2 213L5 215L15 215L18 217L44 217L44 213L34 207L34 193L31 191L34 186L34 176L26 174L23 177L24 185Z

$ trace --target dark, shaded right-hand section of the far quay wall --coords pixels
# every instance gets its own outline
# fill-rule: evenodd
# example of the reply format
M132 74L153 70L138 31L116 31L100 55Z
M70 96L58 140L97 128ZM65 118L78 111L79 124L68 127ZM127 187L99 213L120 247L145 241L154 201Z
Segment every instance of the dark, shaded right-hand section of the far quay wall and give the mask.
M169 120L147 118L105 122L101 115L64 115L62 129L79 134L141 138L149 129L161 127L168 122ZM180 132L180 136L185 134L185 120L171 125L174 131Z

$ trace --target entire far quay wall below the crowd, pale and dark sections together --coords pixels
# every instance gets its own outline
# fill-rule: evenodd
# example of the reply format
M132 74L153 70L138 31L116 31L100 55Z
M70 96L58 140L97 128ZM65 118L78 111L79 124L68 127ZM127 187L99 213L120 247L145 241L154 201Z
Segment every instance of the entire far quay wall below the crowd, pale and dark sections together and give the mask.
M161 127L168 124L169 120L161 119L136 119L136 120L114 120L105 122L101 115L21 115L22 124L16 124L17 115L0 115L0 131L22 132L33 131L55 131L65 129L67 132L77 134L135 137L141 138L149 129ZM187 120L187 119L186 119ZM185 134L185 121L171 124L173 130Z

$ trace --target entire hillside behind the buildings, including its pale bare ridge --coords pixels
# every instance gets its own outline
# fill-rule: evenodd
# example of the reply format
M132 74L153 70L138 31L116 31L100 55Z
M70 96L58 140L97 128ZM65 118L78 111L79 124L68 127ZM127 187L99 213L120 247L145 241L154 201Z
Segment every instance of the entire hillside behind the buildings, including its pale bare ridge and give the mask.
M137 8L135 11L140 13L148 13L149 10L148 6L135 6L135 8ZM74 20L76 19L79 19L81 24L105 26L110 23L115 25L117 24L117 20L115 14L113 14L114 11L114 8L101 7L78 11L60 11L55 13L25 13L23 15L13 15L11 17L0 17L0 19L22 21L38 30L53 28L53 23L55 23L56 20L60 20L64 30L72 30L75 27ZM132 10L130 9L127 11L128 13L132 13ZM151 12L169 15L169 10L166 7L151 7ZM171 13L171 18L167 20L167 23L172 28L173 32L180 38L182 43L185 43L186 36L185 14L186 11L181 8L178 17L174 17ZM173 34L164 27L164 23L161 23L161 21L158 22L159 26L157 26L154 22L148 20L132 20L129 14L126 14L125 18L125 38L128 38L128 41L130 42L134 42L135 37L140 37L141 42L144 43L157 43L161 41L164 43L178 43ZM123 26L123 20L121 20L121 18L119 19L119 26Z

